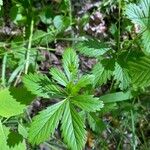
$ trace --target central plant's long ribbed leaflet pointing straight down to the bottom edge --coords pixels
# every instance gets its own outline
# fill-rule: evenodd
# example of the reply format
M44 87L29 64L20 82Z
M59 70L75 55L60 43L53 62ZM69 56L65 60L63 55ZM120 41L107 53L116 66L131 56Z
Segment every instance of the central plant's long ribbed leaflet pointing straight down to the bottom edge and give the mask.
M85 125L69 101L66 103L61 128L68 148L72 150L82 150L86 142Z

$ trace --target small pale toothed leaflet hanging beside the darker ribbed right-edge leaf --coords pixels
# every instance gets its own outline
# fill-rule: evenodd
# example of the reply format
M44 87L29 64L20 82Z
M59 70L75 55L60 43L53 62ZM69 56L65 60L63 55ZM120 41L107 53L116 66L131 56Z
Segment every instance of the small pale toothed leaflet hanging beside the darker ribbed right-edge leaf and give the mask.
M122 68L118 63L116 63L113 75L121 90L125 90L129 87L131 79L126 68Z

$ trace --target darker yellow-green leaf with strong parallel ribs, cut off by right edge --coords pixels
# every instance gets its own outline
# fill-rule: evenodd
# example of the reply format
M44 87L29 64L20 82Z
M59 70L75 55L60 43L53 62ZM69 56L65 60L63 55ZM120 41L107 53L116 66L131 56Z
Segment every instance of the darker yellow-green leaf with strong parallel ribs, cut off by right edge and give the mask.
M129 73L135 88L150 86L150 57L141 57L129 62Z

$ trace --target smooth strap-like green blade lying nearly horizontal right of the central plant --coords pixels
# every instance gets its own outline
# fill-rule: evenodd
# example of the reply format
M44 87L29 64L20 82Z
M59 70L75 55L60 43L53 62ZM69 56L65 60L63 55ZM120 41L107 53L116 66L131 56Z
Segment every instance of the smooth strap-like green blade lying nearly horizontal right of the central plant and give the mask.
M129 100L133 98L130 91L128 92L116 92L116 93L110 93L106 94L104 96L100 97L100 100L105 103L114 103L114 102L121 102L125 100Z

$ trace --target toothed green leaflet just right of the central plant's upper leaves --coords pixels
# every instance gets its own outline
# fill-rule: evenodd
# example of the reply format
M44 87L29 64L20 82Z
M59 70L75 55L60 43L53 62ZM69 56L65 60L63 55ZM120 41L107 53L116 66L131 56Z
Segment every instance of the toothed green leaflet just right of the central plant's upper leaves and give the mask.
M105 84L113 73L111 70L105 69L101 63L97 63L92 72L95 76L94 84L99 86Z

